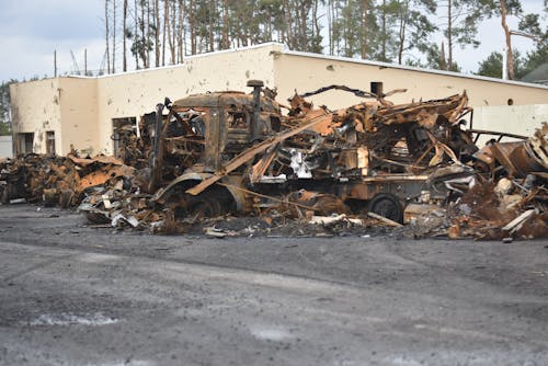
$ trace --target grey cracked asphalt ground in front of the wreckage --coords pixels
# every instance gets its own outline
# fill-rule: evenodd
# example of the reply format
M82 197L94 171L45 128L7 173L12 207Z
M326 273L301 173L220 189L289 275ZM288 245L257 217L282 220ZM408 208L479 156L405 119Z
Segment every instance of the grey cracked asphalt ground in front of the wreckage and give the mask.
M0 206L0 365L547 365L548 240L151 236Z

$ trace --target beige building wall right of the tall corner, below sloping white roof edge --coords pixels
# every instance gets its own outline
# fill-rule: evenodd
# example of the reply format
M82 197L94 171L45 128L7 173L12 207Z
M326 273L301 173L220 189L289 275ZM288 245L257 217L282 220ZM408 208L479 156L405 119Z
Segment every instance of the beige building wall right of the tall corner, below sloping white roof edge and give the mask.
M369 62L370 64L370 62ZM282 52L275 56L274 70L278 95L290 96L330 84L369 91L372 81L384 83L384 92L407 89L389 98L395 103L412 100L434 100L467 91L469 105L514 105L548 103L548 88L526 85L521 82L502 82L489 78L469 78L452 72L423 71L415 68L395 68L385 64L369 65L359 60L312 56L310 54ZM363 101L351 93L330 91L311 98L316 105L340 108Z

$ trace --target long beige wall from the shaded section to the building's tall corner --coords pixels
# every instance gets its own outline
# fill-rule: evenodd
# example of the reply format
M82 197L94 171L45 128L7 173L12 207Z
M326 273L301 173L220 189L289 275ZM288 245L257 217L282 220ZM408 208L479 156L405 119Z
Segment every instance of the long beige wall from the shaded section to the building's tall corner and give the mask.
M275 48L277 47L277 48ZM112 153L112 118L136 117L172 101L207 91L250 91L249 79L274 84L271 50L277 45L193 56L182 66L127 72L98 79L100 152Z

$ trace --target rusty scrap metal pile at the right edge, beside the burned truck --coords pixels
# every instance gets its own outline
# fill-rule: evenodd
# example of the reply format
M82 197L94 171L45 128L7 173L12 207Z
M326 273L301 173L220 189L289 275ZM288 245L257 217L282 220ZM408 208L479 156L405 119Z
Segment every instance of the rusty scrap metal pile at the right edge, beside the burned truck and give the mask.
M481 184L453 206L449 237L548 237L548 125L524 141L488 144L475 157Z

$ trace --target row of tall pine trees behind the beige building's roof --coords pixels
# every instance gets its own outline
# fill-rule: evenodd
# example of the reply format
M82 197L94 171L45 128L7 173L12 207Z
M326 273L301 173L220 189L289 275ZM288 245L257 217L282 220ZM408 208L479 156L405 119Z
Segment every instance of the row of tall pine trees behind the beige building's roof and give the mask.
M159 13L156 13L158 1ZM521 11L518 0L506 1L513 13ZM413 62L406 59L420 53L430 67L445 68L453 61L452 70L458 69L450 59L453 47L478 46L478 22L499 11L499 1L494 0L138 0L136 3L137 7L129 1L129 20L134 24L126 26L124 35L132 42L129 49L142 67L150 67L155 64L151 58L158 57L157 43L162 37L156 38L156 30L163 32L162 12L168 3L172 7L170 14L176 14L170 21L176 39L169 41L181 49L184 47L178 60L183 54L275 41L294 50L399 64ZM445 44L449 61L442 59L439 45L431 41L438 31L434 24L436 15L437 21L445 16L439 28L450 38ZM160 24L156 24L157 20Z

